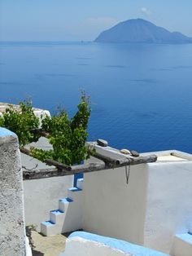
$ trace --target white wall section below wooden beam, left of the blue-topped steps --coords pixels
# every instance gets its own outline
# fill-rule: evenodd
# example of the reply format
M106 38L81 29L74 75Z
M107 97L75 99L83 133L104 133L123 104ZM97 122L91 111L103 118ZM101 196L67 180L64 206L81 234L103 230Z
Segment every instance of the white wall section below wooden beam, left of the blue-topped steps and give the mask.
M50 219L50 210L59 209L59 199L67 196L73 175L24 180L24 214L26 225L40 231L42 221Z

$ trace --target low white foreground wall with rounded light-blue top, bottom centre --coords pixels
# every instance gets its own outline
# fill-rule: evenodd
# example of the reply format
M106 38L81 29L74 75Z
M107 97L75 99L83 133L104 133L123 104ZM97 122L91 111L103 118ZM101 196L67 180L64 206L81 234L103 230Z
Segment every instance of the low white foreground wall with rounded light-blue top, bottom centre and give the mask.
M59 256L168 256L158 251L133 245L111 237L88 232L73 232Z

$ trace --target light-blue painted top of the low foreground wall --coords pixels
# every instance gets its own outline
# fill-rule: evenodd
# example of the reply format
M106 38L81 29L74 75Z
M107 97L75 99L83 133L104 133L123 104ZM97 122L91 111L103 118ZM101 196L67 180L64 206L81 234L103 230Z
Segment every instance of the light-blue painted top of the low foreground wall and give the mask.
M68 238L81 237L88 241L96 241L102 243L111 248L120 249L126 254L133 254L134 256L168 256L168 254L163 254L154 249L148 249L140 245L134 245L126 241L118 240L115 238L107 236L98 236L88 232L73 232Z

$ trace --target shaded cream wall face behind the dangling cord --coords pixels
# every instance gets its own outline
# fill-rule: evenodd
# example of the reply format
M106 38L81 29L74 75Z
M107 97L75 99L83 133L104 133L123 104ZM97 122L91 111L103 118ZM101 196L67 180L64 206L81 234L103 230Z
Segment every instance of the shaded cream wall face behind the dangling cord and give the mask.
M84 176L83 229L143 244L147 166L131 166L129 184L125 167Z

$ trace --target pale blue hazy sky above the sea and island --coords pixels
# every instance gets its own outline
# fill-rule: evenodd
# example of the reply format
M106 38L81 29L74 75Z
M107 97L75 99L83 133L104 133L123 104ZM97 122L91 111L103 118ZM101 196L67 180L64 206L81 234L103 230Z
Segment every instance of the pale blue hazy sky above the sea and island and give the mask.
M192 0L0 0L0 40L92 41L133 18L192 37Z

